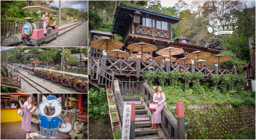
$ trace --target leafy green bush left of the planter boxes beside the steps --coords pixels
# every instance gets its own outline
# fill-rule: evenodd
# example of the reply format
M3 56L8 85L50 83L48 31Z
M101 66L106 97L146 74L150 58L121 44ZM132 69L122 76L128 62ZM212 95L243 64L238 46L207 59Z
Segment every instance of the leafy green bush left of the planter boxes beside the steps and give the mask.
M106 90L104 88L97 89L95 87L92 87L89 84L89 91L88 91L88 114L89 117L92 117L95 115L95 119L99 118L100 116L108 117L109 111L108 111L108 101L107 96L105 94Z

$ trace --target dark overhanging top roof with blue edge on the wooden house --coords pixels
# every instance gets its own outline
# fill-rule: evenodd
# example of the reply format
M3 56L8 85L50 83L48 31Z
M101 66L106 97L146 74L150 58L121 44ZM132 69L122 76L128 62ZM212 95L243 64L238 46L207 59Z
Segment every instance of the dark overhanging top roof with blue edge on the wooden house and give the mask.
M133 8L133 7L120 5L120 6L117 6L116 10L115 10L114 20L113 20L113 24L112 24L112 33L122 33L123 24L121 23L121 21L123 21L123 23L125 23L125 21L128 18L131 18L131 15L137 10L140 11L144 15L148 15L148 16L155 17L155 18L161 18L161 19L165 19L165 20L171 20L172 22L175 22L175 23L178 23L181 20L179 18L163 15L160 13L155 13L155 12L151 12L151 11L147 11L147 10L142 10L142 9L137 9L137 8Z

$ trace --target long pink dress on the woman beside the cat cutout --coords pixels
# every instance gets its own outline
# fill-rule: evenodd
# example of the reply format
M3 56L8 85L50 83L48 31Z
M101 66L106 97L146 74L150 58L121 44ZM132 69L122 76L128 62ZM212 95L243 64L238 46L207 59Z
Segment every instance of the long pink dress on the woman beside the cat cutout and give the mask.
M30 113L30 109L27 109L27 105L24 104L24 111L23 111L23 116L22 116L22 129L24 131L31 131L31 113Z

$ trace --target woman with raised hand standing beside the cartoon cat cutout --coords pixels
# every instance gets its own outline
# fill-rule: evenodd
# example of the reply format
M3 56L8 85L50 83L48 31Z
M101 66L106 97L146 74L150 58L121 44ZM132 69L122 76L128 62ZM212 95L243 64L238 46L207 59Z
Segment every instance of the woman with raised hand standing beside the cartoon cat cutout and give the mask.
M28 98L28 102L26 101L24 105L21 104L21 101L19 100L20 106L24 106L23 116L22 116L22 129L26 131L26 135L30 133L31 131L31 113L36 109L37 106L35 106L33 102L34 98L33 96L30 96Z

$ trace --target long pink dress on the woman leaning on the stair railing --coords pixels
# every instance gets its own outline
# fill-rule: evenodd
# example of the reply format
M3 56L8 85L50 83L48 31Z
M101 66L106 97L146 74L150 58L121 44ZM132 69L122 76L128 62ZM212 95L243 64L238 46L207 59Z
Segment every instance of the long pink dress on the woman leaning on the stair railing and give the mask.
M155 97L155 99L153 100L156 100L156 101L162 101L163 100L163 97L160 97L160 99L158 100L157 99L157 96ZM163 110L163 107L164 107L164 103L161 103L160 105L158 105L157 109L156 110L152 110L153 113L152 113L152 124L155 124L155 123L162 123L162 116L161 116L161 112Z

